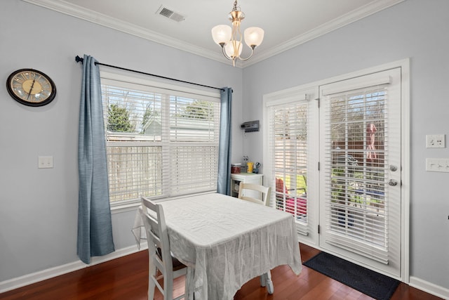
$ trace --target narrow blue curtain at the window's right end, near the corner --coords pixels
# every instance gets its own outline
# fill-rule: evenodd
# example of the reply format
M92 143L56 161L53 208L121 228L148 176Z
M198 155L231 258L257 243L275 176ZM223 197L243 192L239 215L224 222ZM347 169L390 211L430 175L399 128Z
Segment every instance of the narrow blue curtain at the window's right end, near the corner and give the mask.
M231 195L231 121L232 89L220 91L220 143L218 149L217 193Z

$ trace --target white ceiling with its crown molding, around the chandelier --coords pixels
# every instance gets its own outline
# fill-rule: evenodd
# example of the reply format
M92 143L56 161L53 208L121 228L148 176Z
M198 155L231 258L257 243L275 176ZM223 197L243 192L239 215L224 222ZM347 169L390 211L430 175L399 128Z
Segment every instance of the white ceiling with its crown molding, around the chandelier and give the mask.
M232 0L23 1L230 63L214 43L210 30L215 25L230 25L227 15L232 11ZM246 15L242 32L247 27L262 27L264 41L255 49L253 58L238 66L264 60L401 1L404 0L240 0L238 6ZM159 13L161 8L174 14L167 18ZM245 49L242 57L249 52Z

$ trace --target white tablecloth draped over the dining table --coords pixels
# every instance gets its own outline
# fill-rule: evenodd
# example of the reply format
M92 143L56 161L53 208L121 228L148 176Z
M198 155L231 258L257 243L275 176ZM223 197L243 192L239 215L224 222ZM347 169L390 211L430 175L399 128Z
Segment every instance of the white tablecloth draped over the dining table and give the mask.
M233 299L248 280L302 264L291 214L220 194L160 202L173 254L194 268L195 299ZM140 240L140 215L134 234ZM145 230L142 230L145 231Z

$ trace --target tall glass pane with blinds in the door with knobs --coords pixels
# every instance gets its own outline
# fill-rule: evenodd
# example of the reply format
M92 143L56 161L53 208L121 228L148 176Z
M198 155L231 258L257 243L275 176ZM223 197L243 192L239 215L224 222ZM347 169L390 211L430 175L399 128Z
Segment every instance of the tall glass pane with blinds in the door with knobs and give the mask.
M385 152L387 136L382 87L330 97L329 229L387 246Z

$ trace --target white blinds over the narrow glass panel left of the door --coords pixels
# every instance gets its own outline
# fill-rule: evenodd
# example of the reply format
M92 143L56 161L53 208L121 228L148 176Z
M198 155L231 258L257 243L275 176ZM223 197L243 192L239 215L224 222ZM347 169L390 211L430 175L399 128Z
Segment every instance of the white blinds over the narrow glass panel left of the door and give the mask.
M307 165L309 103L298 100L273 103L267 107L270 178L274 178L274 207L295 216L302 226L298 233L308 235ZM273 202L272 202L273 203Z

